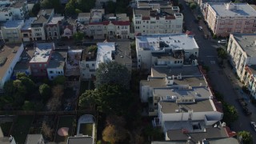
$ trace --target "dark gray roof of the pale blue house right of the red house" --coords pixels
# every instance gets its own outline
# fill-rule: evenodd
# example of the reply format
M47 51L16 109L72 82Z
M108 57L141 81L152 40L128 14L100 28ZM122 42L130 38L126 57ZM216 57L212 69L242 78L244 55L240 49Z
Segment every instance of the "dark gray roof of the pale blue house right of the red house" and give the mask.
M66 52L54 51L47 68L63 69L65 66Z

